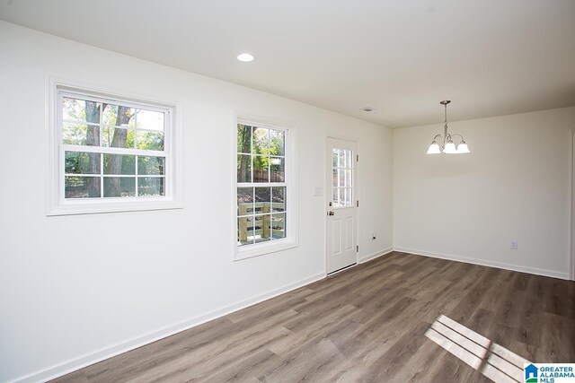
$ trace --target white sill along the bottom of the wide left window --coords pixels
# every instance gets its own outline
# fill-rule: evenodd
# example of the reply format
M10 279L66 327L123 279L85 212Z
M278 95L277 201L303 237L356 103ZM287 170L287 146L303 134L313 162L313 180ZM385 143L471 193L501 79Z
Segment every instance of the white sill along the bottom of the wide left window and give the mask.
M173 199L163 200L155 198L137 201L100 200L98 202L76 200L62 202L56 206L52 206L46 215L141 212L146 210L181 209L182 207L183 205L180 201L174 201Z

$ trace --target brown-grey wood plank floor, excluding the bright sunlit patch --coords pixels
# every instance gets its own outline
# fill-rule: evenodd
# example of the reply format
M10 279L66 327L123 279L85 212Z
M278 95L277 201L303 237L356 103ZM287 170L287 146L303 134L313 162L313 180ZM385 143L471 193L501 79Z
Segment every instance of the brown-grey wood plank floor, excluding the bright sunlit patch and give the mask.
M441 314L575 362L575 283L394 252L55 381L490 381L425 335Z

